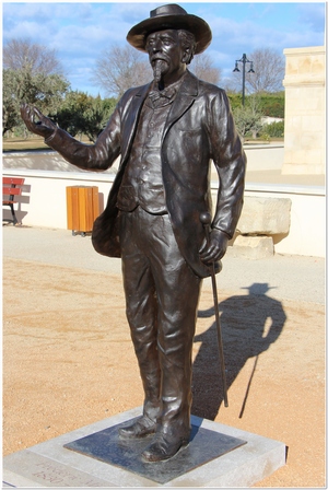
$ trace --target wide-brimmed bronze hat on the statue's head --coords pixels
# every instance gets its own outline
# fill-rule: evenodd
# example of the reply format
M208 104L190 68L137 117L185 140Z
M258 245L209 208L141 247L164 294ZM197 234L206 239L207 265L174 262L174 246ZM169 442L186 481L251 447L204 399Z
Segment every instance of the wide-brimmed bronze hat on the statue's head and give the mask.
M208 23L197 15L187 13L185 9L175 3L152 10L149 19L134 25L129 31L127 40L134 48L145 51L145 39L149 34L169 28L191 32L197 43L196 55L202 52L212 40L212 33Z

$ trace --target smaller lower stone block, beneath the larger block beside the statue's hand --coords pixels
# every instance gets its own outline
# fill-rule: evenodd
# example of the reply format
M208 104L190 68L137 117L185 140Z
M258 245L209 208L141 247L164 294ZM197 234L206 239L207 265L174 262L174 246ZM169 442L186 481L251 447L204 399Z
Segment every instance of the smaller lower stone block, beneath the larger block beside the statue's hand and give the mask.
M272 257L274 254L272 236L236 236L231 250L233 256L250 259Z

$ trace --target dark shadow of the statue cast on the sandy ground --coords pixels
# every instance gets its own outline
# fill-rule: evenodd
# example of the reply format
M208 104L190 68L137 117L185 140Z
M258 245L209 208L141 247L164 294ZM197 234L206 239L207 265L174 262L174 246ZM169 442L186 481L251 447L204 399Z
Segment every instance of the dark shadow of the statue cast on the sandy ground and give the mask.
M286 320L281 302L267 296L269 289L273 289L268 283L254 283L243 289L247 289L248 294L231 296L219 304L227 398L229 388L246 361L254 359L239 418L246 408L258 359L279 338ZM191 412L214 420L224 399L214 307L199 311L198 317L209 319L213 317L213 322L208 330L196 335L194 340L201 345L194 361Z

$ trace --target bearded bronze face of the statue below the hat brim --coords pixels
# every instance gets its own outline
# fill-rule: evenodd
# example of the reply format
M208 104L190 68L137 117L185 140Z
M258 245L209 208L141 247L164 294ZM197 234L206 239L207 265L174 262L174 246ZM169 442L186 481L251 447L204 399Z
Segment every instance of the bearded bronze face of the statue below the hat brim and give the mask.
M175 30L157 31L149 34L145 49L154 74L156 70L161 71L161 77L164 79L168 79L185 67L184 51L178 32Z

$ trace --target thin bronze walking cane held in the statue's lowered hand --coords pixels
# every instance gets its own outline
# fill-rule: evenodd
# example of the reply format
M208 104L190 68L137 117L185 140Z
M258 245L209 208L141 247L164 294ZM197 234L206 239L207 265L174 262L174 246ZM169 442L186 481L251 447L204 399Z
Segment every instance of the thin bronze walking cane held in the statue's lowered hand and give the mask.
M206 232L207 243L210 243L210 223L211 223L211 214L209 212L202 212L199 217L200 222L202 223ZM214 312L215 312L215 325L218 332L218 343L219 343L219 353L220 353L220 364L221 364L221 375L223 383L223 398L224 398L224 407L227 407L227 390L226 390L226 380L225 380L225 365L224 365L224 354L223 354L223 343L222 343L222 334L221 334L221 323L219 316L219 301L218 301L218 290L216 290L216 280L215 280L215 268L214 262L211 265L211 278L212 278L212 289L213 289L213 300L214 300Z

